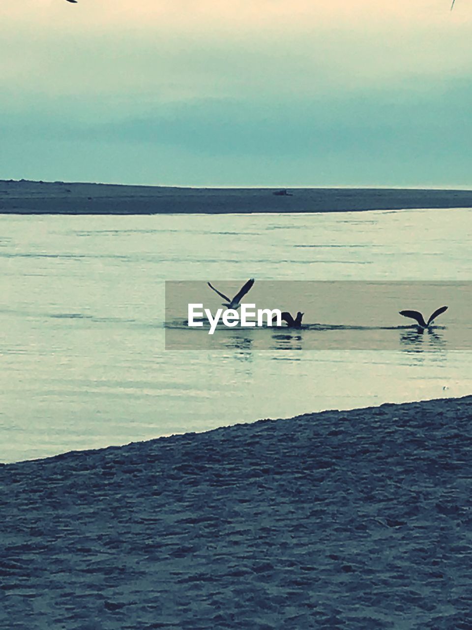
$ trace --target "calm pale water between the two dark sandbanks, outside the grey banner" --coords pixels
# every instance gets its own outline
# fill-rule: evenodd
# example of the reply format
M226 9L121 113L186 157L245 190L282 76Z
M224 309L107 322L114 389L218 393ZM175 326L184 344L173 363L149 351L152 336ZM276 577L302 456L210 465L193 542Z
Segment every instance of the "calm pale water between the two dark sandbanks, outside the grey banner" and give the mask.
M441 343L385 352L304 348L303 331L279 340L283 352L237 335L216 352L171 352L163 326L164 280L472 280L471 219L1 216L0 461L471 393L472 353L448 343L452 309Z

